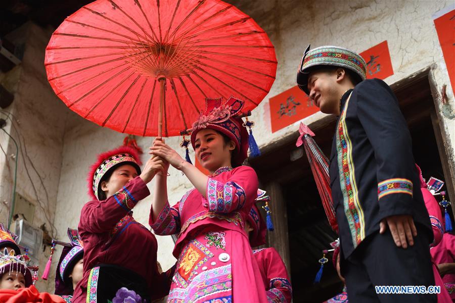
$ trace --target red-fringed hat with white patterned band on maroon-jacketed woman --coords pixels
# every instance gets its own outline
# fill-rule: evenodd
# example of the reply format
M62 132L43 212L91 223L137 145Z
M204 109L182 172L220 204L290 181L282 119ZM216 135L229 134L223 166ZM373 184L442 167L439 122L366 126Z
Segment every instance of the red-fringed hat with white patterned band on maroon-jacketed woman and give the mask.
M90 167L88 174L88 194L95 199L100 199L101 180L108 172L113 171L120 165L132 165L138 175L141 174L141 161L138 152L134 148L128 146L120 146L118 148L106 151L98 155L98 160Z

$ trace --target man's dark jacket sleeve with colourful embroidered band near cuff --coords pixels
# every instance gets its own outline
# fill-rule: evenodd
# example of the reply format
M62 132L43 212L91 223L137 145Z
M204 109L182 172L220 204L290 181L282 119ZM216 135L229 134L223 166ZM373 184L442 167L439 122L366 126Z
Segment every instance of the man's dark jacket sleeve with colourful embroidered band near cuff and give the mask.
M415 172L411 134L398 100L382 80L365 80L352 97L358 119L374 149L380 218L411 215Z

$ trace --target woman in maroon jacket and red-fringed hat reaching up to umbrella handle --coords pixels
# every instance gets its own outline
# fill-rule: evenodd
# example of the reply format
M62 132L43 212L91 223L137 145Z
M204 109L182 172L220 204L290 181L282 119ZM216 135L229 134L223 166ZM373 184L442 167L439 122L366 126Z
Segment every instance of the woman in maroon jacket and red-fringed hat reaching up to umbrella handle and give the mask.
M93 199L80 214L83 278L73 302L107 302L122 287L146 301L167 294L170 272L158 272L156 238L132 217L134 206L150 194L147 183L162 169L155 157L141 172L135 150L125 146L99 155L88 176Z

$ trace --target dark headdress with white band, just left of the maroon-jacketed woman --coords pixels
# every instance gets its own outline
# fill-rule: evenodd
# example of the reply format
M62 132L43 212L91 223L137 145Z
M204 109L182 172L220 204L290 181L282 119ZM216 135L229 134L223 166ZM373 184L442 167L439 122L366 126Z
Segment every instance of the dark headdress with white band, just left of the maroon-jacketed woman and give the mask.
M70 243L54 240L57 244L64 245L55 273L55 294L58 295L73 294L73 285L69 275L73 271L74 265L84 256L82 240L77 229L68 228L68 237Z

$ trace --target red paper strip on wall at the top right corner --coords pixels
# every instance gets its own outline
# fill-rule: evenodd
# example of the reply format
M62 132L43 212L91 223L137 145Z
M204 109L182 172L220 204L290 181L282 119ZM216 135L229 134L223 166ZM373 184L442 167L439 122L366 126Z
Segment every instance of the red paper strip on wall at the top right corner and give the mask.
M455 10L434 19L452 89L455 87Z

